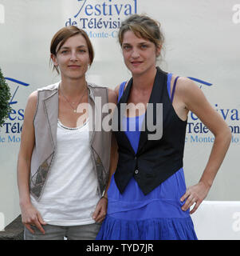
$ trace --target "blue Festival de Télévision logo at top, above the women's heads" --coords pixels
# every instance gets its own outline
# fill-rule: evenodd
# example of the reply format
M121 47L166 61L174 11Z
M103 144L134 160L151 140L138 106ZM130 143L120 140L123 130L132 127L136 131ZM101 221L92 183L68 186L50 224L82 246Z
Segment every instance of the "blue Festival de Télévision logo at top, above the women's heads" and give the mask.
M65 26L78 26L89 38L116 38L122 19L137 13L137 0L77 0L77 13Z

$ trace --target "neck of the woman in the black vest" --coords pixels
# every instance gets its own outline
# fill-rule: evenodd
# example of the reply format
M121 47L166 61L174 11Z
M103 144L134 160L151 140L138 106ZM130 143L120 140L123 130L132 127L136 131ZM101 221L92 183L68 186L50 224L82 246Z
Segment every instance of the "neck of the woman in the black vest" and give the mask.
M132 86L139 90L149 90L152 88L156 74L155 66L144 74L132 75Z

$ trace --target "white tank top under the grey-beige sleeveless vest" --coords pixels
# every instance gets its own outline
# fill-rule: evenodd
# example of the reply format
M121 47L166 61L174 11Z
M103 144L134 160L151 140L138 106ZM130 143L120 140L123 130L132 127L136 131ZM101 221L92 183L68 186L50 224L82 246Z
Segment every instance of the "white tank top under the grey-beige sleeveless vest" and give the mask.
M89 122L68 128L58 120L57 151L39 202L33 206L45 222L57 226L78 226L95 221L92 214L100 196L93 168Z

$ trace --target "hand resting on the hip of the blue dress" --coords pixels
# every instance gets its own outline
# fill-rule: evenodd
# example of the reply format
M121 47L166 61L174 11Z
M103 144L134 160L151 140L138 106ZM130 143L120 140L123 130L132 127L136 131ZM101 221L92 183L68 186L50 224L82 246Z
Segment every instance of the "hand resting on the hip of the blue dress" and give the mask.
M199 208L203 199L207 197L209 190L210 186L207 186L204 182L199 182L198 184L187 188L186 193L183 194L182 198L180 198L181 202L187 198L186 202L182 206L182 210L186 211L195 204L193 209L190 211L190 214L193 214Z

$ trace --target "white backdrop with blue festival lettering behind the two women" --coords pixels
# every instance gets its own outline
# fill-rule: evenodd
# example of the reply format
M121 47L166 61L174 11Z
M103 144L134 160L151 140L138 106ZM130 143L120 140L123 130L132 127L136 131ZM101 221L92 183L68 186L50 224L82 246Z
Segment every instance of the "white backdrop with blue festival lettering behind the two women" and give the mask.
M232 130L230 150L207 196L240 199L240 2L238 0L0 0L0 67L14 97L13 112L0 130L0 217L5 226L20 213L16 166L28 95L57 82L49 68L49 45L63 26L84 28L96 58L88 80L114 88L130 77L116 33L129 14L148 14L161 23L166 38L159 66L198 78L210 103ZM187 186L198 182L213 135L190 114L184 170ZM240 211L240 209L239 209ZM3 217L2 217L3 216ZM1 222L0 219L0 222ZM0 224L1 227L1 224Z

